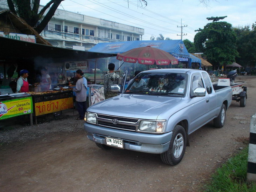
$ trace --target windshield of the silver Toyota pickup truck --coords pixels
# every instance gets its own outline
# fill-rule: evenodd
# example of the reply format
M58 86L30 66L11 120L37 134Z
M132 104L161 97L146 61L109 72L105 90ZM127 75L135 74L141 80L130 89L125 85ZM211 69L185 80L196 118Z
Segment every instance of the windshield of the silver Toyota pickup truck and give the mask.
M124 93L182 97L186 93L187 74L142 73L128 85Z

